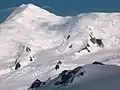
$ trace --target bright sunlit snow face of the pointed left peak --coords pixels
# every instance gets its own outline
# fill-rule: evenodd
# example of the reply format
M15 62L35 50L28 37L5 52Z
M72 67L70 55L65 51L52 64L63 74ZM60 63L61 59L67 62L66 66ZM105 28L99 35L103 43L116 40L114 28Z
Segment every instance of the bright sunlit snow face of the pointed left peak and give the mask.
M30 64L37 51L59 46L63 34L53 26L66 21L32 4L18 7L0 25L0 75L14 71L17 62Z

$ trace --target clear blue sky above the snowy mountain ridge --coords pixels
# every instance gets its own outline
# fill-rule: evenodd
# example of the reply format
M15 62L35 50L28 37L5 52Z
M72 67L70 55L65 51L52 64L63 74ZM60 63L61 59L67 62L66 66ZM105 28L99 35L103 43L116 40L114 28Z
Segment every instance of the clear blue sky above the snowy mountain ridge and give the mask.
M33 3L59 16L75 16L88 12L120 12L120 0L0 0L0 9ZM12 12L0 12L2 22Z

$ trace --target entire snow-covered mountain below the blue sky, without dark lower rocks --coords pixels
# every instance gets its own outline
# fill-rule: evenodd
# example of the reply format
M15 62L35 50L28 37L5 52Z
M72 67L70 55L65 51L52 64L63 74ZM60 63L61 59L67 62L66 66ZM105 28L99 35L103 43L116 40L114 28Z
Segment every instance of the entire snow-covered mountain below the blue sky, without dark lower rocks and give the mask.
M108 66L88 65L88 76L79 78L68 89L96 90L104 86L102 90L120 90L119 20L120 13L61 17L33 4L21 5L0 24L0 90L27 90L36 79L54 79L65 69L94 61ZM55 70L58 61L62 65ZM21 67L15 70L17 62ZM50 85L41 88L56 89Z

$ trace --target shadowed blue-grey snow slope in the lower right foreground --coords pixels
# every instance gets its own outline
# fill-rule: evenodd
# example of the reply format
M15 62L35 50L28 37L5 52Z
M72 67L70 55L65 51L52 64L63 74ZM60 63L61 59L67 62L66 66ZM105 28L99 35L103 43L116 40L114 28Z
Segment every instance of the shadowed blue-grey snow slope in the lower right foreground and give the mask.
M79 68L79 67L78 67ZM120 67L115 65L85 65L74 72L66 82L61 82L62 73L55 79L47 81L36 90L119 90ZM85 72L82 76L81 73ZM67 75L67 74L66 74ZM70 75L70 73L69 73ZM68 76L69 76L68 75ZM62 79L65 80L65 79Z

